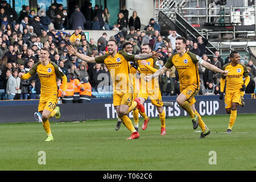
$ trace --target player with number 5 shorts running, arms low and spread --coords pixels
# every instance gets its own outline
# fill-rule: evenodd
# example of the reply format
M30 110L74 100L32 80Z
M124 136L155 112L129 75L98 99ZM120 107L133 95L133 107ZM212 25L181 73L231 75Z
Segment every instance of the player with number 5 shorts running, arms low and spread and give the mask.
M210 134L210 130L195 109L196 100L194 96L197 94L200 88L200 78L197 64L201 64L205 68L221 73L224 76L228 75L228 71L222 71L214 65L205 62L194 53L186 51L186 39L183 37L176 38L175 47L177 53L169 57L167 63L162 68L156 71L153 75L144 77L144 79L146 81L150 81L152 78L163 75L168 68L175 66L179 74L180 81L180 94L177 96L176 102L181 108L187 111L192 118L193 129L197 129L198 125L201 127L203 132L200 134L199 138L205 138Z

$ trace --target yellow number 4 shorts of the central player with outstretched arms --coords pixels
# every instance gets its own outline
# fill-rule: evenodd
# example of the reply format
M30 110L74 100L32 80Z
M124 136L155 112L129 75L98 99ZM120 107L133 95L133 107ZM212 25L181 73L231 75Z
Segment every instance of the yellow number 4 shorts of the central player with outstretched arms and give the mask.
M133 93L113 93L114 106L127 105L130 106L133 101Z

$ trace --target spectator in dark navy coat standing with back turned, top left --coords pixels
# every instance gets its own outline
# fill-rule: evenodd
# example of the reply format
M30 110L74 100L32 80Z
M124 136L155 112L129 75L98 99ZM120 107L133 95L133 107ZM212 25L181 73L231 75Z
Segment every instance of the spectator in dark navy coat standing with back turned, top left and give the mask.
M79 7L75 9L75 11L71 14L71 17L69 18L69 23L71 24L71 29L76 29L77 27L82 27L82 30L84 30L84 24L86 20L84 18L84 15L80 12Z

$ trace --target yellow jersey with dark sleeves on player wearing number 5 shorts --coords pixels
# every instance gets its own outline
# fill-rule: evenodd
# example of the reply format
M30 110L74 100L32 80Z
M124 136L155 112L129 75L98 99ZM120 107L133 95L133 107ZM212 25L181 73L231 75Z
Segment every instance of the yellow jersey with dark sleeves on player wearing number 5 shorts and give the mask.
M179 74L180 86L194 85L199 89L200 77L197 63L200 59L195 53L189 51L185 52L182 57L175 53L169 57L164 67L170 69L175 66Z

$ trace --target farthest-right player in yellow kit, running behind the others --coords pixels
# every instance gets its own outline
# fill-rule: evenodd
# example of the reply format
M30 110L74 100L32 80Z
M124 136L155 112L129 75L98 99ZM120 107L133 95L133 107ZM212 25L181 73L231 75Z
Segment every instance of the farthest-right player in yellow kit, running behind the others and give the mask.
M237 51L230 53L230 63L225 64L222 69L228 71L228 75L221 76L221 94L220 100L223 100L224 87L226 81L226 92L225 92L225 108L226 113L230 114L229 127L226 130L227 134L232 133L232 127L237 118L237 107L243 106L243 95L245 94L246 86L250 82L250 76L247 72L245 65L240 64L240 54ZM243 77L245 81L243 81Z

